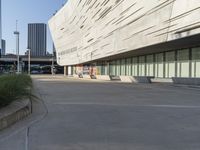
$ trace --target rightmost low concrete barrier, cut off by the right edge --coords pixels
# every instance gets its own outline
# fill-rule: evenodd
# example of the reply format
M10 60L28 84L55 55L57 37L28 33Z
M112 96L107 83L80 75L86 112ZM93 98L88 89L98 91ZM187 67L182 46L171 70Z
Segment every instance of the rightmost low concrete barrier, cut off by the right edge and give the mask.
M200 85L200 78L172 78L174 84Z

